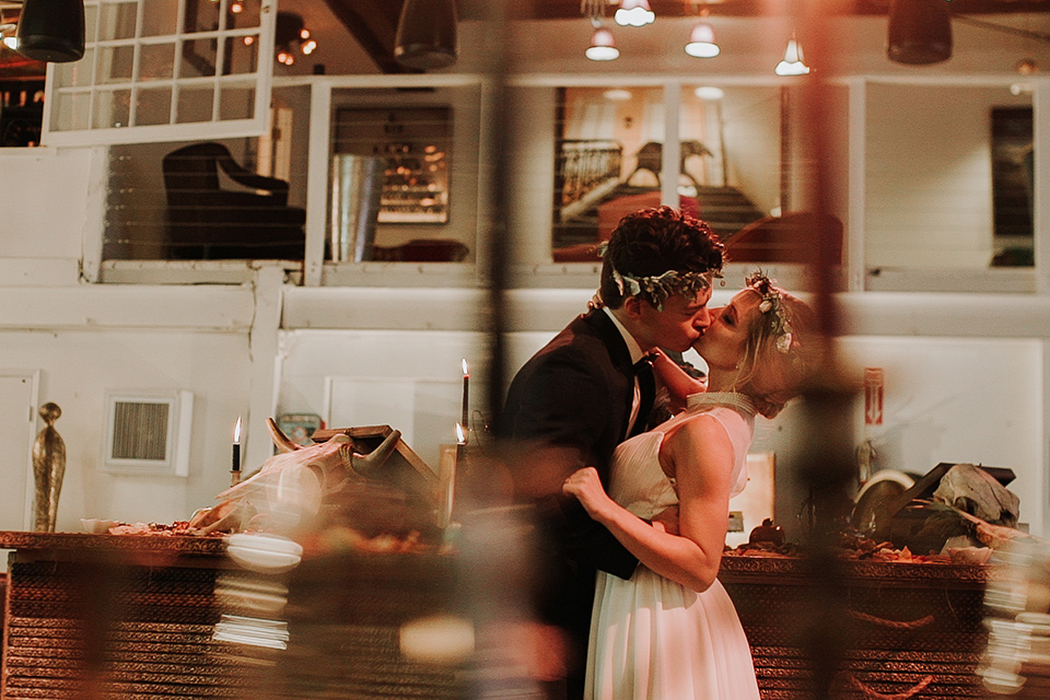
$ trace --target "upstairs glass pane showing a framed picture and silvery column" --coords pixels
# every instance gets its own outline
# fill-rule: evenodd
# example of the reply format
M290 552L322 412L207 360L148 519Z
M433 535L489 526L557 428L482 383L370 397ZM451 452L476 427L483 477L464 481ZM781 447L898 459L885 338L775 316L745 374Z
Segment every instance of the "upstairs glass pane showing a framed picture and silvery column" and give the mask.
M332 104L328 258L472 259L479 89L345 89Z

